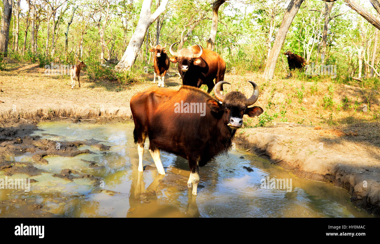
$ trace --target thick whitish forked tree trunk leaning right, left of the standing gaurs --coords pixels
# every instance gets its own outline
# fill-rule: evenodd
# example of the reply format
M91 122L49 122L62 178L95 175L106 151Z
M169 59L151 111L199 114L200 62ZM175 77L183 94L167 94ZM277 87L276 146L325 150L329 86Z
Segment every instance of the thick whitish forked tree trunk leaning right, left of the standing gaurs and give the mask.
M139 21L136 26L136 30L129 41L128 47L125 50L123 57L119 63L115 66L116 71L130 71L131 67L136 61L136 57L140 52L141 44L144 41L145 33L148 27L163 13L166 9L166 5L169 0L163 0L160 6L152 14L150 7L152 6L152 0L144 0L142 2Z

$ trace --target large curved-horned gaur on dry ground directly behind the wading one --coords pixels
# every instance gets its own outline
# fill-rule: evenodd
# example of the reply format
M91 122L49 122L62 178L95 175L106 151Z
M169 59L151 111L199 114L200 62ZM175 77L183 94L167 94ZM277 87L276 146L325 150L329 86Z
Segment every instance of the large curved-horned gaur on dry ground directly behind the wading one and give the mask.
M178 63L182 84L198 88L205 84L207 93L210 93L215 84L224 79L226 62L219 54L203 49L199 44L175 52L173 46L177 43L179 42L170 45L169 52L173 55L170 61Z

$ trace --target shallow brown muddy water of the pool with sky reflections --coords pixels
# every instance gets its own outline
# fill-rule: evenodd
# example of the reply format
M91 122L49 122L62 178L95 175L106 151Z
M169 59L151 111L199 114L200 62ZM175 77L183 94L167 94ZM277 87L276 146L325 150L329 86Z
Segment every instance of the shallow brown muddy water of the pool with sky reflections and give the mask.
M143 173L138 172L133 123L100 125L59 121L40 123L38 127L41 130L33 135L42 138L95 139L111 148L101 151L80 146L79 149L89 149L93 154L46 156L48 164L34 163L46 173L9 177L32 178L38 182L31 183L29 192L1 189L0 200L11 200L14 205L0 205L0 217L28 216L22 213L34 210L25 208L24 201L41 206L39 210L48 213L43 216L57 217L371 217L350 202L346 190L299 179L244 150L233 149L200 167L198 195L194 196L191 188L187 188L188 164L181 157L161 152L166 172L161 176L149 151L145 150L143 163L147 166ZM148 145L147 140L146 149ZM6 157L9 161L33 162L30 154ZM95 165L90 166L89 161ZM53 177L67 168L101 177L102 181ZM0 178L4 177L0 172ZM262 182L268 177L291 179L291 191L263 188Z

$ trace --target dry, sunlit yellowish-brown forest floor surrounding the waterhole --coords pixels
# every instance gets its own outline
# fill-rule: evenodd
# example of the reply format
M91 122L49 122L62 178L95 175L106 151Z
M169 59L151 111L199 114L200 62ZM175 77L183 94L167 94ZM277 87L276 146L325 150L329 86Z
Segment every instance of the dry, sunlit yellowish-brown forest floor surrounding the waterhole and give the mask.
M81 88L76 82L71 89L69 76L46 75L38 64L5 61L8 70L0 72L0 142L28 135L41 120L130 120L131 96L154 85L151 68L133 84L94 81L85 68ZM171 67L165 87L180 87L175 73ZM378 87L338 84L322 76L286 76L264 81L260 73L226 73L231 83L224 86L226 92L249 96L253 89L247 81L255 81L260 88L255 105L265 111L261 120L244 117L236 143L294 175L344 187L353 203L380 215ZM259 121L263 127L255 127Z

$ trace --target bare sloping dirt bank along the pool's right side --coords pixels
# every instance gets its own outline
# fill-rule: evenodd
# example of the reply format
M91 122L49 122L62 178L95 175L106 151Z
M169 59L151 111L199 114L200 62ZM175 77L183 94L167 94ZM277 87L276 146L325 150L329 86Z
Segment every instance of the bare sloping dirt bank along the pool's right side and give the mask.
M356 206L380 216L380 149L350 141L349 133L326 131L290 123L242 129L234 141L300 178L346 189Z

